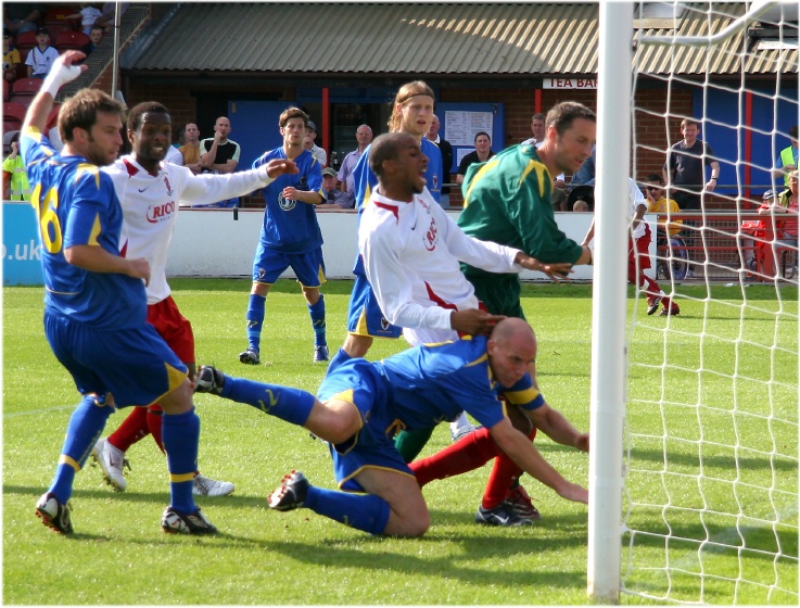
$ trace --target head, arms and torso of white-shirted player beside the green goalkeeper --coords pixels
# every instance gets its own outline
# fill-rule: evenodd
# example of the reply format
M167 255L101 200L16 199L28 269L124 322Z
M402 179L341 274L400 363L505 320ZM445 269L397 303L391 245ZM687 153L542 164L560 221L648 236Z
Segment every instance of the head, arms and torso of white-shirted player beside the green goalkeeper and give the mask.
M412 136L380 136L369 164L379 185L364 208L358 251L383 315L411 345L487 333L504 318L479 308L459 261L491 273L569 273L569 264L545 265L465 235L428 192L428 157Z

